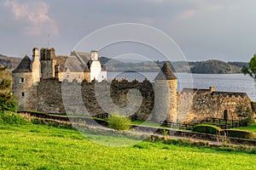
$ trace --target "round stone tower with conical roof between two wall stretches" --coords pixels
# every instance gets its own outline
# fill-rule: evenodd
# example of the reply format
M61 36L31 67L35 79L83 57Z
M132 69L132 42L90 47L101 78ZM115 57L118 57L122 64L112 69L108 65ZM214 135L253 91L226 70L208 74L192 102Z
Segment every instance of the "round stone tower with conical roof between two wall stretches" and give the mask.
M167 62L154 81L154 121L177 122L177 77Z

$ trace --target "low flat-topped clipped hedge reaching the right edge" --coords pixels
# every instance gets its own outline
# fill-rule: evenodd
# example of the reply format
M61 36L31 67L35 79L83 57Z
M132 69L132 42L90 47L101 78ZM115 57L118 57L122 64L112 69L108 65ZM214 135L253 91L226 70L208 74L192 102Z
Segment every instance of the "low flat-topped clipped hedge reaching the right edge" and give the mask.
M256 134L250 131L239 130L239 129L226 129L224 131L227 133L227 136L233 137L233 138L241 138L241 139L256 138Z

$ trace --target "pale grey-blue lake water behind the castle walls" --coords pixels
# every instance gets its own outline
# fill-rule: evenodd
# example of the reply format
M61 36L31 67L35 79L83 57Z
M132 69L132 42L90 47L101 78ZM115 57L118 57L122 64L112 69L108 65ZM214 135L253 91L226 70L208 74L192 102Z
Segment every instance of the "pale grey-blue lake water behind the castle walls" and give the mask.
M153 82L156 72L108 72L108 79L127 78L129 81L137 78L143 81L145 77ZM183 88L209 88L215 87L216 91L222 92L242 92L256 101L256 82L253 78L244 76L243 74L189 74L177 73L178 91Z

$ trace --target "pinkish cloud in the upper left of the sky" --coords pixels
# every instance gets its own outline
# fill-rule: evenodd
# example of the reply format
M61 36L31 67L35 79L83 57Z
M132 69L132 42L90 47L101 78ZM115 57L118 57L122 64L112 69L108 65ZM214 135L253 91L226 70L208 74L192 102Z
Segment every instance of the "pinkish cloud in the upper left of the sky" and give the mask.
M57 35L59 30L55 20L49 17L49 4L43 1L6 0L5 8L10 8L16 21L24 26L26 34L39 36L42 34Z

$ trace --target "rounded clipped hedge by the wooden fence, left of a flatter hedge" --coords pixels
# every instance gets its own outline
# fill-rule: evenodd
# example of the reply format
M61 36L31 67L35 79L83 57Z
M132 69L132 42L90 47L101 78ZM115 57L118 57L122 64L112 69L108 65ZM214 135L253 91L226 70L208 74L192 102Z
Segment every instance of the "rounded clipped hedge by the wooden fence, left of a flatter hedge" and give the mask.
M213 125L199 124L193 127L193 132L219 134L220 132L222 132L222 129Z

